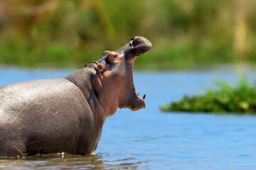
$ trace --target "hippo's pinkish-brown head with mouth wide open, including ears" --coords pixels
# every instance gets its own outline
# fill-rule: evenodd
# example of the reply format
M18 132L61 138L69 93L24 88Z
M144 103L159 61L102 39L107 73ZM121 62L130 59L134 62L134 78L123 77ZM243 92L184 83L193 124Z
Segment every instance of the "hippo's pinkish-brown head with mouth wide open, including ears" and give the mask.
M141 98L135 91L132 68L136 57L150 48L149 40L137 36L115 52L103 52L100 60L90 64L96 70L93 88L107 117L113 115L117 108L137 111L146 107L145 95Z

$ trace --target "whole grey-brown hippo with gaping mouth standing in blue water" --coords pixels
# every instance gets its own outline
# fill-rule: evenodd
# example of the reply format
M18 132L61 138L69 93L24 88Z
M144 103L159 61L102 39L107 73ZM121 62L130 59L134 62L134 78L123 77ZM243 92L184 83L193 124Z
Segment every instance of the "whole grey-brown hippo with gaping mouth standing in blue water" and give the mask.
M1 86L0 156L95 153L107 117L117 108L146 107L145 95L135 91L132 68L150 49L149 40L136 36L65 78Z

